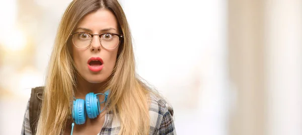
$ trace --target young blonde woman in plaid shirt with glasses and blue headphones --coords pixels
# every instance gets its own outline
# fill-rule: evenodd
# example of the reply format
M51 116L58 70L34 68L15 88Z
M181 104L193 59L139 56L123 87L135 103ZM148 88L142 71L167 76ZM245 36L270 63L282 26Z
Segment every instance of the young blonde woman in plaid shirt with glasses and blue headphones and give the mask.
M72 1L51 53L36 134L176 134L172 107L136 75L134 61L116 0Z

